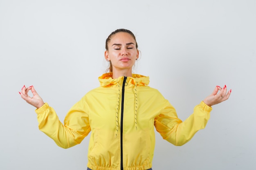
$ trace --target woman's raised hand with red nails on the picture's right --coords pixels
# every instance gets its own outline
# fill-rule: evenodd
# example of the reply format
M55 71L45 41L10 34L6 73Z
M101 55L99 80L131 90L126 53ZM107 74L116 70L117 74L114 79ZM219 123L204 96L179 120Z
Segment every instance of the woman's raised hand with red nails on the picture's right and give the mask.
M203 100L203 102L211 107L215 104L219 104L219 103L224 102L225 100L229 99L230 93L231 93L231 89L227 92L226 85L223 88L221 88L220 86L216 86L213 93L211 93L211 95L206 97Z

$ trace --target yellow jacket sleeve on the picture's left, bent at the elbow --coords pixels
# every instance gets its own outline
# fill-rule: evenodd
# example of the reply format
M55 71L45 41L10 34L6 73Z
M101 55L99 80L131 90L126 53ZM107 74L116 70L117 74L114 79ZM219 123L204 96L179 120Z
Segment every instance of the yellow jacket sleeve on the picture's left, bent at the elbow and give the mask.
M83 102L77 102L67 113L64 124L56 112L45 103L36 109L39 130L52 138L61 148L70 148L81 141L91 131L89 116Z

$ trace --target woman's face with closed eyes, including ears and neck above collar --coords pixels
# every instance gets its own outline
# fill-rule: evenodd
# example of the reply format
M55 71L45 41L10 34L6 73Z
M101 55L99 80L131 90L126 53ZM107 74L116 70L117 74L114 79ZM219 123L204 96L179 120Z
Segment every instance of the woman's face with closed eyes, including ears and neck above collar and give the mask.
M132 71L135 60L139 57L136 42L129 33L116 33L108 43L108 51L105 51L106 60L110 60L115 71Z

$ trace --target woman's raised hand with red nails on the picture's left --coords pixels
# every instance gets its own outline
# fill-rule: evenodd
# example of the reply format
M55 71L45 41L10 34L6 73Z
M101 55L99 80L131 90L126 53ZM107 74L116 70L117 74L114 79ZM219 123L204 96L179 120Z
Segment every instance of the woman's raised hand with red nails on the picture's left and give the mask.
M28 92L31 90L33 97L30 97L28 95ZM45 103L43 102L43 99L36 93L36 90L34 86L30 86L26 88L24 85L19 92L22 99L24 99L28 104L31 104L32 106L35 106L36 108L40 108Z

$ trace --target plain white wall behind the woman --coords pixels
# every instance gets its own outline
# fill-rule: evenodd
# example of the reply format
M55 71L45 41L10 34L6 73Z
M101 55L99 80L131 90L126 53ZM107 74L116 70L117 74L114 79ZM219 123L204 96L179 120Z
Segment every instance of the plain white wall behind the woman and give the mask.
M150 76L186 119L216 85L232 88L184 146L156 134L153 170L256 169L255 0L0 0L0 169L85 170L88 141L59 148L20 98L34 85L61 121L106 71L105 40L137 38Z

